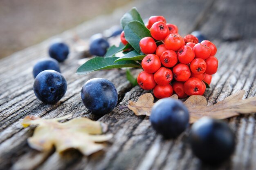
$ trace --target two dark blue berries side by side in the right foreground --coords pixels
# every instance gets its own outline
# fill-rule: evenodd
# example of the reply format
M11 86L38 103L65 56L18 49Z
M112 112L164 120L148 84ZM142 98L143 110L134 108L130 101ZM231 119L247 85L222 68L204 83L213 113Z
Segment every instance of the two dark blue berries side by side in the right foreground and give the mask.
M163 98L153 106L150 122L164 138L174 139L189 127L189 111L181 101ZM203 117L192 125L189 144L204 163L219 164L234 152L235 135L227 123Z

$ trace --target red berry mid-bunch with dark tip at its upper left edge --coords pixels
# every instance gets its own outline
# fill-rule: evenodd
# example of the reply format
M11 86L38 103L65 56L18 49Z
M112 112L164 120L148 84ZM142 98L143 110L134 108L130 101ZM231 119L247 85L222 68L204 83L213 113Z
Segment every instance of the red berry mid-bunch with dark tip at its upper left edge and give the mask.
M184 45L177 51L177 56L180 63L189 64L195 58L195 53L191 47Z

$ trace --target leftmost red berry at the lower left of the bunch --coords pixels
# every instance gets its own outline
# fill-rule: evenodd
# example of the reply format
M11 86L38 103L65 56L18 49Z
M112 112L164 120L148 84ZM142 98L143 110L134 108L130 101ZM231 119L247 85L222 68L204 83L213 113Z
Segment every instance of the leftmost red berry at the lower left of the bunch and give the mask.
M153 89L156 85L154 81L154 74L150 74L145 71L139 73L137 77L137 82L139 86L145 90Z

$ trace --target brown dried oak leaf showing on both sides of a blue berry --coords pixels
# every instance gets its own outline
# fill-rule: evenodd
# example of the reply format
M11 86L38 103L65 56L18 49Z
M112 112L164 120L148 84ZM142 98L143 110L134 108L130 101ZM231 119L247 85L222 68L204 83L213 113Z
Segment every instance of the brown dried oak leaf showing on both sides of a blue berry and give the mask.
M238 116L239 114L256 112L256 97L242 100L244 94L245 91L240 90L225 98L223 101L210 106L207 106L207 100L204 96L190 96L184 101L190 114L189 122L194 123L203 116L208 116L214 119L226 119L232 116ZM171 98L177 99L177 95L175 95L176 94L171 96ZM135 112L136 115L150 116L151 109L154 105L153 99L152 94L146 93L141 95L137 102L130 101L128 107ZM148 103L150 104L148 105Z

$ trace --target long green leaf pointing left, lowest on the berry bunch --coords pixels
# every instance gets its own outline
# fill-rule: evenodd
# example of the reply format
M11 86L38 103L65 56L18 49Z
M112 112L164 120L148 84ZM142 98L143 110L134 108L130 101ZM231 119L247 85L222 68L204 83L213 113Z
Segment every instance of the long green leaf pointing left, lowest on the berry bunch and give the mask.
M81 65L76 74L88 74L93 71L102 70L102 69L114 69L114 68L123 68L123 67L141 67L139 63L135 61L119 61L114 63L118 57L95 57L83 65Z

